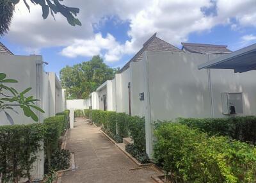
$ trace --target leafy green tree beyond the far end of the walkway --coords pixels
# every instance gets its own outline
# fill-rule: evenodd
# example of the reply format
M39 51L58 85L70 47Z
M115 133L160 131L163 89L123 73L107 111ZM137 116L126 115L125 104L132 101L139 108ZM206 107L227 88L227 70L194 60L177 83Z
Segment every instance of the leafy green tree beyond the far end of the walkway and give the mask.
M108 67L100 56L93 56L90 61L62 68L60 79L68 99L86 99L100 84L113 79L119 70Z

